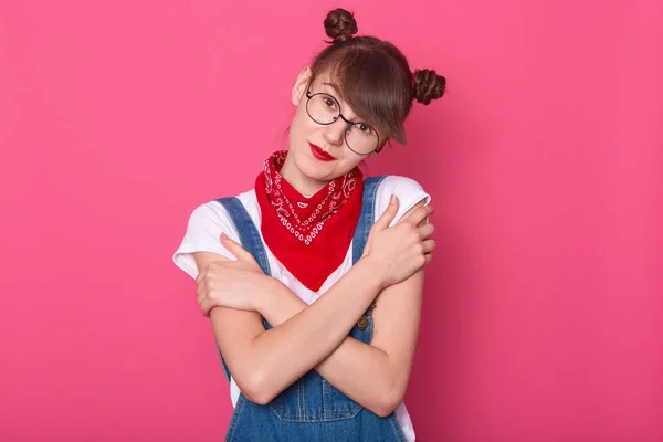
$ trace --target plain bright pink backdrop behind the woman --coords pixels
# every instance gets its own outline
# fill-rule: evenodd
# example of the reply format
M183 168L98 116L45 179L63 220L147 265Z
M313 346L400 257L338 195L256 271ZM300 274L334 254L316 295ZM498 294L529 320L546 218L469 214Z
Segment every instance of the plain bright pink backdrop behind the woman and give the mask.
M222 438L171 255L283 146L335 6L0 2L0 440ZM663 3L341 6L449 81L368 165L438 209L418 440L662 441Z

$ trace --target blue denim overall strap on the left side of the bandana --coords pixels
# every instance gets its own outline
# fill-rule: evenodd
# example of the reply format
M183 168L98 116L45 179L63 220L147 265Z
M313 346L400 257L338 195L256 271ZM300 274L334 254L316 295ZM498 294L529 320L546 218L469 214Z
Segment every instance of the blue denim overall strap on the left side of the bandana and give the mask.
M242 248L244 248L245 251L251 253L253 257L255 257L255 261L257 262L262 271L267 276L271 276L272 272L270 271L270 262L267 260L265 246L260 238L260 233L257 231L257 228L255 227L255 223L246 212L246 209L244 209L244 204L242 204L242 202L236 197L219 198L217 201L220 202L228 211L230 219L232 220L235 229L240 234L240 243L242 244ZM263 323L265 322L263 320ZM230 382L230 370L228 369L228 365L223 359L223 355L221 355L219 343L215 343L215 345L217 350L219 351L219 357L221 358L221 366L223 367L225 380Z

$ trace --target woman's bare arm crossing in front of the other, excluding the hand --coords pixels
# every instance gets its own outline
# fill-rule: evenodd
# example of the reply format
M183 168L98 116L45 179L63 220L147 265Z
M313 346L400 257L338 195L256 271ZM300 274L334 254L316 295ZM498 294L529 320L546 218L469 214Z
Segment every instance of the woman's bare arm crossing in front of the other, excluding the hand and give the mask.
M220 257L201 253L194 255L199 269ZM255 312L211 311L221 352L250 400L269 403L340 345L382 288L378 277L366 277L377 274L371 265L358 262L325 296L270 330Z

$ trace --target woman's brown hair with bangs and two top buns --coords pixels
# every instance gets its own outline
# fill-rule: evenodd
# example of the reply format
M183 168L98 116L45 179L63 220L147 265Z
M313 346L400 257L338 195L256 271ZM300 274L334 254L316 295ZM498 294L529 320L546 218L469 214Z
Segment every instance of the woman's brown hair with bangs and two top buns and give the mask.
M325 31L332 41L313 61L313 78L329 72L359 117L404 144L403 122L412 101L428 105L440 98L446 81L432 70L410 72L398 48L375 36L352 36L357 30L355 17L345 9L327 14Z

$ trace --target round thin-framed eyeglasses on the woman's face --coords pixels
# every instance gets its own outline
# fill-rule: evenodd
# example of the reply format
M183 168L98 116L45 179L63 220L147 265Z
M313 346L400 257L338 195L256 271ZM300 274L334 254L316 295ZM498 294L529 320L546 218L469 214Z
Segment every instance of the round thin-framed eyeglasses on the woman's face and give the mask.
M340 105L334 96L323 92L311 94L306 91L306 113L319 125L334 124L338 118L348 124L345 141L348 148L357 155L370 155L382 150L378 131L366 123L350 122L340 113Z

